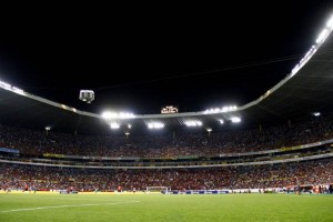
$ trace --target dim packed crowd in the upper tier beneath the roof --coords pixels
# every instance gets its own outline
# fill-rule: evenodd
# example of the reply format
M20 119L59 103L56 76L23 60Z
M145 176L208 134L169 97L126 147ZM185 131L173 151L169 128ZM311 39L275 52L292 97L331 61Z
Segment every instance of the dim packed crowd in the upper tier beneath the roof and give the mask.
M162 135L81 135L0 125L0 148L20 153L172 159L272 150L333 138L333 115L271 128Z

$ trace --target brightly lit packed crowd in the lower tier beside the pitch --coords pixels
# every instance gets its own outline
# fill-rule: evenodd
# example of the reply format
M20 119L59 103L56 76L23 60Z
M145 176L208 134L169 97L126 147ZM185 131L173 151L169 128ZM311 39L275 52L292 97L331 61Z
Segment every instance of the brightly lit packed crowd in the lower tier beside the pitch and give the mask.
M333 183L333 160L196 169L77 169L0 163L0 189L114 191L265 189Z

